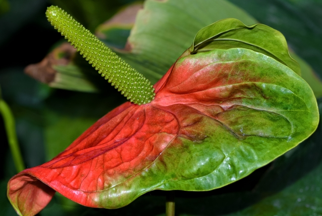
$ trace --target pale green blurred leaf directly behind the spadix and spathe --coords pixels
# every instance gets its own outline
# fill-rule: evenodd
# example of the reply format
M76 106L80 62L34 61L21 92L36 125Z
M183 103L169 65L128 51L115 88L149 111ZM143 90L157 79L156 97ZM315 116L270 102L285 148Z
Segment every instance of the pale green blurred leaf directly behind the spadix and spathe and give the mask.
M230 17L247 25L257 23L226 0L146 0L137 14L126 51L118 50L118 55L156 83L201 28Z

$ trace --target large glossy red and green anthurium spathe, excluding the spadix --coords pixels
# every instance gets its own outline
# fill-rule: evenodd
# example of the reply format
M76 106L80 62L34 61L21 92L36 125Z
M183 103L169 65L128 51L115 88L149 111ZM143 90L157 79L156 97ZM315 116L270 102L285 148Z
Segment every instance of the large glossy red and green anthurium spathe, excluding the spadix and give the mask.
M318 125L314 94L285 53L264 25L226 19L202 29L154 85L154 100L124 103L53 160L13 176L12 206L33 216L57 191L113 209L151 190L212 190L247 176Z

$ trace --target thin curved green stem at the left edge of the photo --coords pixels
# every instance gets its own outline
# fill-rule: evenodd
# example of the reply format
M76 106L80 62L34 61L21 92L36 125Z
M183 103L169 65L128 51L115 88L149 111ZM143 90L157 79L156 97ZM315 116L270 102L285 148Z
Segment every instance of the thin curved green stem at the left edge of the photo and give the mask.
M11 151L11 155L13 157L14 165L16 167L17 172L23 171L25 166L23 164L16 129L14 118L9 106L0 98L0 114L3 118L4 128L6 130L8 143Z

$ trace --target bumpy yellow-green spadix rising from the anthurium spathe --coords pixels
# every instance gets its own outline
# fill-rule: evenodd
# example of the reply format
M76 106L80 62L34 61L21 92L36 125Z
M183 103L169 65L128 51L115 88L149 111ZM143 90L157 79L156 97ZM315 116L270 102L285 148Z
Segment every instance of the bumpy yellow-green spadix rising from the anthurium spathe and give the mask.
M72 16L57 6L48 7L46 16L52 26L128 100L141 105L154 99L155 93L151 83Z

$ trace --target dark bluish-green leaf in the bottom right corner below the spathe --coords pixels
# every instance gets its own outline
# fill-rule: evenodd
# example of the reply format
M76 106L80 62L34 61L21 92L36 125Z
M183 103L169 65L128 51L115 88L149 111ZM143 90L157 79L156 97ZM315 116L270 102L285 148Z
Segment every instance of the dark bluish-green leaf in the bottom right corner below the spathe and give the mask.
M321 116L322 100L318 102ZM229 216L321 215L321 132L320 122L316 133L308 140L274 162L273 169L256 188L257 192L270 196Z

